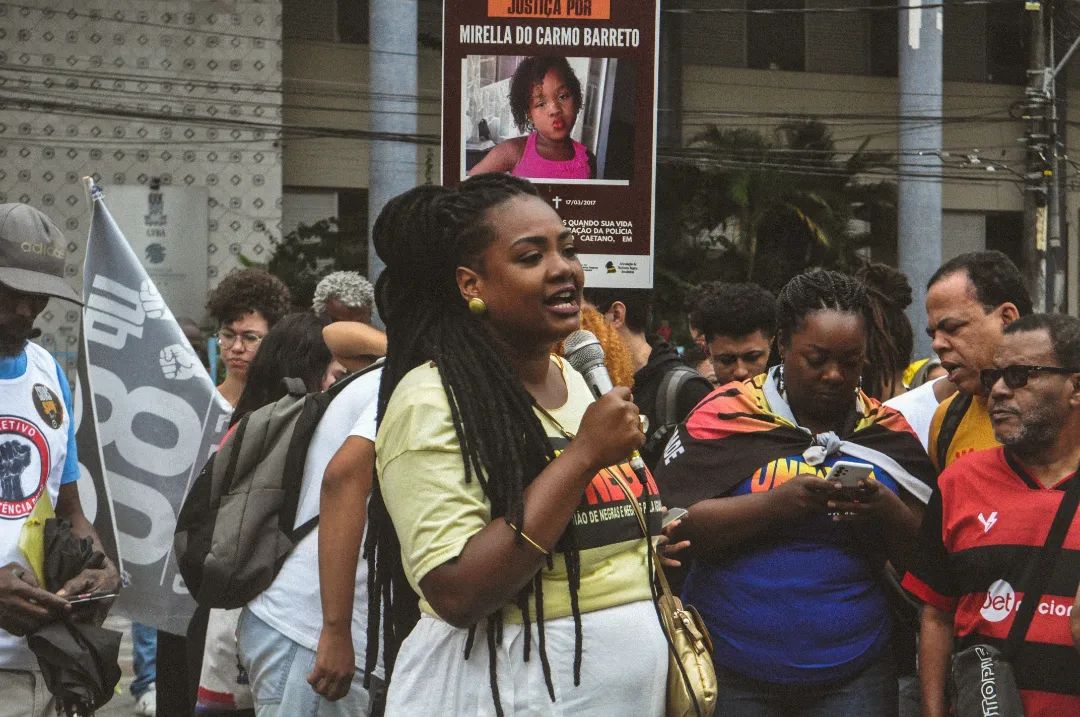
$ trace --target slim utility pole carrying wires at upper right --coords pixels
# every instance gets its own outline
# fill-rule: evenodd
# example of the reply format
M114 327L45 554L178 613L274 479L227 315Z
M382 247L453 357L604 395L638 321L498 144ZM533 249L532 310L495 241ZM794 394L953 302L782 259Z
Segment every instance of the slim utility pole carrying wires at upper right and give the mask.
M1047 300L1045 267L1047 231L1050 207L1048 207L1048 185L1056 180L1053 176L1051 157L1056 155L1047 127L1047 110L1051 107L1048 84L1045 17L1042 2L1025 2L1028 23L1028 69L1027 87L1024 91L1024 121L1027 128L1024 143L1027 146L1024 172L1024 279L1035 306L1044 306ZM1056 232L1055 232L1056 233Z

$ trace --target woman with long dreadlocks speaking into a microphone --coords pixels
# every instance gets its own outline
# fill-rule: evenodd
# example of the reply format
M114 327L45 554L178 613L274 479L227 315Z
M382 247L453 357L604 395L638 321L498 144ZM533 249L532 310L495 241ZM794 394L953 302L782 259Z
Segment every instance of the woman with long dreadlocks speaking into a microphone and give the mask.
M661 715L646 543L613 477L656 508L651 479L618 465L642 445L637 407L624 388L593 403L551 354L579 325L572 234L532 185L488 174L392 200L374 236L389 332L367 551L387 714ZM420 618L395 655L402 576Z

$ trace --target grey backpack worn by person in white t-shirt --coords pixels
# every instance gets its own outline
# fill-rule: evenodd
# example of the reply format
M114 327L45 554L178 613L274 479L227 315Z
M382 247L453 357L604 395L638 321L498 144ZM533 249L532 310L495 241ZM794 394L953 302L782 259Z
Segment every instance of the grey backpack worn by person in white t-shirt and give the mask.
M314 530L319 516L293 528L311 437L335 396L380 367L319 393L285 379L286 395L244 416L210 457L184 499L173 539L180 576L199 605L243 607Z

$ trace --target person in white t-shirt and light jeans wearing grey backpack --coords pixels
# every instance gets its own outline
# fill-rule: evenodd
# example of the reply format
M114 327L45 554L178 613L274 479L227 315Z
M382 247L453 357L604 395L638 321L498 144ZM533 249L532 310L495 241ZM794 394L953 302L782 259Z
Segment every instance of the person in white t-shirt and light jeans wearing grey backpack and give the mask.
M381 332L356 326L373 335L362 353L384 350ZM356 377L327 407L308 449L295 524L319 515L320 525L241 614L240 657L259 717L379 714L381 664L370 689L363 685L367 563L360 545L381 375L376 368Z

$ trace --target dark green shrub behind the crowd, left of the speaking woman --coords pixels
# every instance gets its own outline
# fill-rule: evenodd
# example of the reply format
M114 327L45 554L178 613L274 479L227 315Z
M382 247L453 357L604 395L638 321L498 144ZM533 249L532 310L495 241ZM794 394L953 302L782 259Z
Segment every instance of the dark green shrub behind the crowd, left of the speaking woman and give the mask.
M297 309L311 307L315 285L332 271L367 270L367 244L339 230L336 218L298 225L282 238L269 232L272 245L270 262L256 265L241 255L243 266L264 266L282 280L293 295Z

